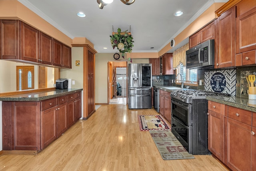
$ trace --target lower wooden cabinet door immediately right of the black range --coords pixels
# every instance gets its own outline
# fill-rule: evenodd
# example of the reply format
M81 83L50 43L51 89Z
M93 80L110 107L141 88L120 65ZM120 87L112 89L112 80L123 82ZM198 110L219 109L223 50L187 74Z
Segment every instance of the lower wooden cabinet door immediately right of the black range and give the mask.
M208 149L224 162L224 115L208 110Z

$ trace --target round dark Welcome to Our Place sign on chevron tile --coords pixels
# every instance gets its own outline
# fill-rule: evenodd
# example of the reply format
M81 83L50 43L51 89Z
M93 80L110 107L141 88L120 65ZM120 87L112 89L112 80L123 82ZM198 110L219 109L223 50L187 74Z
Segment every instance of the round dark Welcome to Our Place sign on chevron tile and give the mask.
M211 88L213 91L221 93L226 88L226 77L221 72L215 72L211 77Z

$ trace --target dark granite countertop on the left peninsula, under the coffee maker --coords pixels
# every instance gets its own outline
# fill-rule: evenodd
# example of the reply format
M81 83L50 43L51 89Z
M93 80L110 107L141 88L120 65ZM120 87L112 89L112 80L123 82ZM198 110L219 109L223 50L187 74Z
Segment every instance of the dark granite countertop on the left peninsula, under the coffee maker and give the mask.
M54 97L59 97L62 95L68 95L71 93L76 93L82 91L83 89L56 89L50 91L42 91L36 93L26 93L19 95L9 95L0 97L0 101L42 101L46 99L51 99Z

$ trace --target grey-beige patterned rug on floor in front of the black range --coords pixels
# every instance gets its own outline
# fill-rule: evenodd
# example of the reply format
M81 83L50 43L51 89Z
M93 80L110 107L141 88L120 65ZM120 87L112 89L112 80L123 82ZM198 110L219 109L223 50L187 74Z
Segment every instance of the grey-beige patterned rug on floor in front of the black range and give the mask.
M150 130L149 133L164 160L195 158L186 151L170 130Z

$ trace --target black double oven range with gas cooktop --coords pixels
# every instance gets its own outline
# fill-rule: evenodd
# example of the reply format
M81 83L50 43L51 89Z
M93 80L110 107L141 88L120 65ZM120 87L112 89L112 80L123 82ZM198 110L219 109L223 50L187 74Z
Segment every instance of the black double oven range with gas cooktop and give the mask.
M229 96L203 90L172 91L172 133L188 153L206 155L208 151L207 96Z

